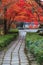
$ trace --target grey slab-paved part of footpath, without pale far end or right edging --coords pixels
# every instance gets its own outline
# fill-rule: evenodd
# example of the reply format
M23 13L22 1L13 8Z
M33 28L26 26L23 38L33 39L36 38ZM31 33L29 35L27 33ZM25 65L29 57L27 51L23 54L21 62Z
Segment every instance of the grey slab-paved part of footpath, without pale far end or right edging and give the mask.
M24 53L24 38L19 37L16 42L0 58L0 65L29 65Z

